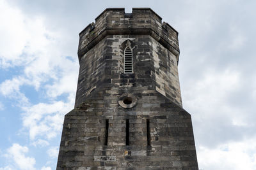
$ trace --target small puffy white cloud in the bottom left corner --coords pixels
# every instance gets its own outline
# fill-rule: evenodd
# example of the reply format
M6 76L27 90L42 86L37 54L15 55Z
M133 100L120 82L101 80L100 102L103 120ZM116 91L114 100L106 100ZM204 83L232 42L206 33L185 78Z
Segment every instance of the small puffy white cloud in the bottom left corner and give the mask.
M25 154L28 153L28 150L28 147L14 143L8 148L6 157L11 159L19 169L34 170L36 160L33 157L26 157Z

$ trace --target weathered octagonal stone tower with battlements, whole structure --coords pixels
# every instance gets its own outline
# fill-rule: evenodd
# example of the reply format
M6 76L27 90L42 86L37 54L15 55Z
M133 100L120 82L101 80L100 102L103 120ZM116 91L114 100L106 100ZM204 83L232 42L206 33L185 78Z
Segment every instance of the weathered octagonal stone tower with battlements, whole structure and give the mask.
M57 169L198 169L178 32L150 8L108 8L80 34Z

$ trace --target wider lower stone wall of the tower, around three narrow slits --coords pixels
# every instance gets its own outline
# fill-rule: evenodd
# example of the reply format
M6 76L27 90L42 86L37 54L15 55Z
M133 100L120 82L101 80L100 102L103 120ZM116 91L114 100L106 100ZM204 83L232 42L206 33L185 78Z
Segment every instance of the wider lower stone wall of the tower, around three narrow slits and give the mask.
M124 93L133 108L118 104ZM104 87L65 116L57 169L198 169L191 116L149 87Z

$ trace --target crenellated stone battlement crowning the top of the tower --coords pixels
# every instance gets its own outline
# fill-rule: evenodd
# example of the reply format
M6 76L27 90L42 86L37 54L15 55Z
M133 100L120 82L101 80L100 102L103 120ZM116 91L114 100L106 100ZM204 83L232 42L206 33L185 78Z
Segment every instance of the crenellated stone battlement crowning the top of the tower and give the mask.
M179 61L178 32L150 8L132 8L125 13L124 8L107 8L79 34L78 57L108 35L147 34L170 50Z

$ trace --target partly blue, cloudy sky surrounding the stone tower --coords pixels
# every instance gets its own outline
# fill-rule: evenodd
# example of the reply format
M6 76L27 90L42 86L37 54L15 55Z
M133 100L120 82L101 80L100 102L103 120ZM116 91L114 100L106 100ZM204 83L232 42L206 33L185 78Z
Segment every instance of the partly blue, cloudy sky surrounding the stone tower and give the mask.
M106 8L152 8L179 32L199 169L256 169L256 1L0 0L0 170L56 169L79 32Z

